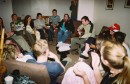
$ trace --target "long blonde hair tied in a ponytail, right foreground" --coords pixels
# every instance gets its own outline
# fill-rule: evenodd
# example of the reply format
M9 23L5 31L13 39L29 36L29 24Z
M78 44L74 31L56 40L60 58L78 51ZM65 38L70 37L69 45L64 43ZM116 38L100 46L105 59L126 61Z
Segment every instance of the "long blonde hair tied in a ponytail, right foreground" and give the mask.
M130 84L130 59L128 58L126 49L123 45L113 41L105 41L101 47L101 53L111 67L123 69L114 83Z

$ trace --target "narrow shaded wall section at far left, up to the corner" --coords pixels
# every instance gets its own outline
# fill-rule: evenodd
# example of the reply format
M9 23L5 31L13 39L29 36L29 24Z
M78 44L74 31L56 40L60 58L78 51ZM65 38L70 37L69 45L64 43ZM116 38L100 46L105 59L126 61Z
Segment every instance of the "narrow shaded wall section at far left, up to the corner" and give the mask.
M6 0L6 2L0 2L0 17L4 20L4 25L7 31L10 31L10 22L12 14L12 2L11 0Z

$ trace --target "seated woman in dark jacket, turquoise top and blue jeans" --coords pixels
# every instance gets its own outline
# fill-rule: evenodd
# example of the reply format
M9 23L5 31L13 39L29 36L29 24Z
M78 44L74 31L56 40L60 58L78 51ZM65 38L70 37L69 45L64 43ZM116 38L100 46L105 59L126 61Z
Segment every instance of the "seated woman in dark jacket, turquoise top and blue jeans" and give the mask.
M58 42L65 43L66 39L74 32L73 21L68 14L64 14L64 19L60 22L58 32Z

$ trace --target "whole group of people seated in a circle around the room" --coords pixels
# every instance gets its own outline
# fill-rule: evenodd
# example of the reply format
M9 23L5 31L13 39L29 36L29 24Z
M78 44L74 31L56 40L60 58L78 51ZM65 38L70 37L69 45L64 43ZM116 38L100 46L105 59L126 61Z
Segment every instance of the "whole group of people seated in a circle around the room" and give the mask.
M50 28L47 28L41 13L37 13L34 21L30 15L21 21L12 14L11 32L5 35L2 57L3 60L43 64L47 67L51 84L58 84L56 80L64 74L65 66L50 51L48 42L53 41L54 32L57 32L57 44L63 44L75 29L68 14L64 14L61 21L56 9L52 14ZM62 84L129 84L130 48L125 43L126 34L120 31L120 25L104 26L95 37L94 25L89 18L83 16L81 21L78 37L71 38L71 50L78 49L79 59L66 70ZM4 28L2 18L0 28ZM48 42L45 32L48 33ZM91 62L88 64L85 60L89 58Z

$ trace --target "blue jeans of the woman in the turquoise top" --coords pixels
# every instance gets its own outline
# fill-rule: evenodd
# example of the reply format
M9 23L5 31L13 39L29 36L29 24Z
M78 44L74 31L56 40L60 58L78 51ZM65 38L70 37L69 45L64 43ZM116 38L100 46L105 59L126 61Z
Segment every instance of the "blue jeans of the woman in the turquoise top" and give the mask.
M71 31L64 32L63 30L60 30L58 32L58 42L65 42L66 39L70 36Z

